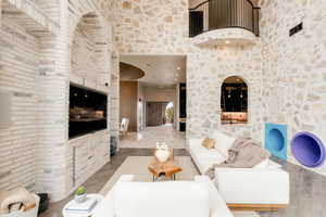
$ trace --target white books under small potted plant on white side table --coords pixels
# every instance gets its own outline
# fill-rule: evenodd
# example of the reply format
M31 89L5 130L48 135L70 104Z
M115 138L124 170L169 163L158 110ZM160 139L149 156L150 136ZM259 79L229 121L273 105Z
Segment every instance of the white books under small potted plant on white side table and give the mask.
M64 213L70 214L90 214L96 207L98 201L95 197L87 197L85 202L77 203L75 200L71 201L64 208Z

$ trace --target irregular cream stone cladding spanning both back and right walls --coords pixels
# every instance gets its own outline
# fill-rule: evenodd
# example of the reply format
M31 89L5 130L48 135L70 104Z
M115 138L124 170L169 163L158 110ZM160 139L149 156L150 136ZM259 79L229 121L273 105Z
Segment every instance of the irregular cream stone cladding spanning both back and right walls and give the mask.
M186 0L118 0L114 37L124 55L187 55L187 138L222 129L263 143L264 123L273 122L289 126L289 139L309 130L326 141L325 7L323 0L264 0L254 46L197 47L198 39L188 38ZM301 21L304 30L290 38ZM249 86L248 125L221 125L221 86L233 75ZM314 170L326 175L325 166Z

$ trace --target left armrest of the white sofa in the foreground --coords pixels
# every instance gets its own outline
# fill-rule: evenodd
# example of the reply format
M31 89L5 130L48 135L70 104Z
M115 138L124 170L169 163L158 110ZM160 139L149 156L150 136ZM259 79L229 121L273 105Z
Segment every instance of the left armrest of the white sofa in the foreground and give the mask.
M115 217L114 212L114 189L116 184L121 182L131 182L134 180L134 175L123 175L121 176L115 184L112 187L112 189L108 192L105 197L98 204L98 206L95 208L92 217Z

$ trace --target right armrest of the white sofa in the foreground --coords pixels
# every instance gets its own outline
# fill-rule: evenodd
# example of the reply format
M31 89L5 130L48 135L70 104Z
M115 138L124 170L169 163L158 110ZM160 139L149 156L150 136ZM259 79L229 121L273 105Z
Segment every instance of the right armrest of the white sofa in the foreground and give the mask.
M226 206L225 201L217 192L214 183L208 176L196 176L195 181L205 182L208 184L211 202L211 217L234 217L228 207Z

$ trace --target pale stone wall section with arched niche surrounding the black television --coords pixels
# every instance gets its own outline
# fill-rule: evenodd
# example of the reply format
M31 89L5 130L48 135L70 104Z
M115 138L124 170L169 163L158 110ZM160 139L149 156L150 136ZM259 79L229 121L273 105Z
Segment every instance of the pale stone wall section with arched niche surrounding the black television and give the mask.
M118 68L112 63L114 51L112 27L98 3L101 4L92 0L70 2L68 42L72 60L70 80L108 94L108 129L95 136L89 135L67 142L66 194L64 196L110 161L110 127L114 125L111 123L111 106L114 107L112 103L118 103L118 97L111 98L110 73L116 75ZM110 14L110 11L105 13ZM73 151L74 148L82 151L76 154ZM100 153L104 155L99 156ZM80 171L78 168L84 170Z

